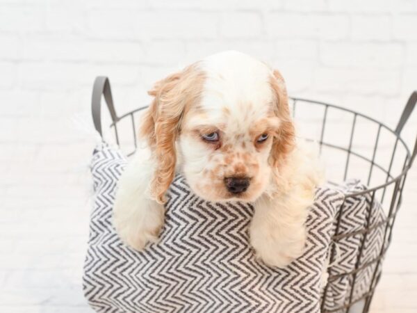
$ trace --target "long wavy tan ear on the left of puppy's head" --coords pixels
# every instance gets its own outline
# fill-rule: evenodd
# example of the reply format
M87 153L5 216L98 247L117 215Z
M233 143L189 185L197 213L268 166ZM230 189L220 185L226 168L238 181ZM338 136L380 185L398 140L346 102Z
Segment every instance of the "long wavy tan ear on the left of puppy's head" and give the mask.
M147 139L156 159L151 195L159 203L165 202L165 192L175 175L177 151L175 142L181 131L181 120L201 93L202 71L197 63L183 71L157 81L149 95L154 97L145 113L140 136Z

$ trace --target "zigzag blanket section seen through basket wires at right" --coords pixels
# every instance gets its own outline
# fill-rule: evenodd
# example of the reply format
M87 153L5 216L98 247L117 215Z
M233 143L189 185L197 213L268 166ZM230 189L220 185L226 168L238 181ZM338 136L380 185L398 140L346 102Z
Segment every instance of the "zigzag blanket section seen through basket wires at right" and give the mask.
M354 193L366 190L366 186L357 180L352 180L346 182L345 186L340 186L339 190L343 193ZM373 227L377 223L385 220L384 211L379 202L375 201L372 207L370 204L371 198L369 194L346 198L343 207L336 215L336 218L338 218L338 215L342 214L338 234L349 234L351 232L363 230L366 228L366 219L369 215L370 223L368 227ZM361 258L359 259L359 267L375 260L382 249L384 227L385 225L380 225L371 230L367 234L365 241L363 241L363 234L356 234L340 239L336 243L340 249L340 255L338 256L336 264L329 268L329 275L342 275L343 273L354 271L362 242L363 251L361 253ZM334 234L335 231L336 224L332 229L332 234ZM371 264L357 273L352 293L352 302L361 298L361 296L370 290L370 282L373 277L373 272L375 271L375 266L377 266L376 263ZM381 264L379 264L379 268L377 268L377 273L379 271L381 271ZM337 280L330 282L328 292L331 296L325 303L325 309L332 310L334 307L341 307L349 303L352 284L353 275L342 275ZM335 312L344 311L341 310Z

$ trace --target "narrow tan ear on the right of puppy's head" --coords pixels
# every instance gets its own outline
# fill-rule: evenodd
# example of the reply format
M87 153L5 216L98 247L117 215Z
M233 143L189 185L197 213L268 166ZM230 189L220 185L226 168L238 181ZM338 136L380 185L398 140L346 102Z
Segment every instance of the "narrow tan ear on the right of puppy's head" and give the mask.
M274 97L275 114L281 120L277 137L274 138L271 150L272 164L277 167L281 165L282 161L285 160L289 152L295 147L295 129L288 107L285 81L277 70L273 71L273 76L270 78L270 85Z

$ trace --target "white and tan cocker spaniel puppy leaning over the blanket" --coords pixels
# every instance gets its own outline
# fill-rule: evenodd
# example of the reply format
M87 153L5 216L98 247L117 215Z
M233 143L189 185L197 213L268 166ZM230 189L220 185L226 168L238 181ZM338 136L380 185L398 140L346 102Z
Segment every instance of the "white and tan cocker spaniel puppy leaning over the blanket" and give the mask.
M302 255L304 223L320 170L302 148L277 70L236 51L208 56L158 81L143 139L120 179L113 224L141 250L164 223L165 193L176 172L213 202L254 205L250 243L268 266Z

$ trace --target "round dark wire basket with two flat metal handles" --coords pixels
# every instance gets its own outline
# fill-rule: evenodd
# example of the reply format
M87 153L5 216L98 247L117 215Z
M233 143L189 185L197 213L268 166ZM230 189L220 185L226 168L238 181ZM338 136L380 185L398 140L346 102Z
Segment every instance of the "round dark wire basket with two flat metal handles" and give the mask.
M147 106L118 116L113 104L108 78L97 77L92 93L92 119L95 129L101 136L103 136L101 127L102 95L106 100L111 116L110 129L113 129L115 142L129 156L133 154L137 147L135 120L140 111ZM370 202L370 207L372 207L374 201L379 201L382 207L386 209L384 220L377 225L370 226L371 214L368 214L366 216L366 226L348 234L339 234L342 214L337 215L333 241L337 242L353 236L361 236L361 246L353 271L343 274L338 273L337 275L332 275L332 271L329 271L328 281L341 276L349 278L351 284L350 296L344 304L331 309L325 307L329 284L327 284L322 294L321 312L350 312L351 308L357 303L361 303L359 309L361 312L368 312L375 287L381 276L381 271L379 271L381 262L391 243L393 225L402 202L402 191L407 172L417 154L417 139L413 151L410 152L409 147L401 137L402 129L416 106L417 92L414 91L409 97L395 129L391 129L374 118L333 104L301 98L291 98L290 102L295 120L300 120L301 125L304 125L307 129L305 137L317 141L320 145L320 154L323 157L327 155L328 159L334 163L333 167L338 169L338 172L328 175L331 177L329 182L338 184L354 177L360 178L362 182L366 182L369 186L364 191L345 193L343 204L355 197L366 196ZM338 128L338 130L335 128ZM343 136L340 134L345 135L345 142L343 142L343 138L341 138ZM384 240L378 256L364 263L362 262L362 252L366 236L376 227L382 227ZM334 245L329 253L329 262L332 263L336 254ZM354 298L353 291L357 275L366 268L370 269L370 266L372 266L372 277L370 278L368 291L359 298ZM355 312L359 311L356 309Z

